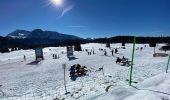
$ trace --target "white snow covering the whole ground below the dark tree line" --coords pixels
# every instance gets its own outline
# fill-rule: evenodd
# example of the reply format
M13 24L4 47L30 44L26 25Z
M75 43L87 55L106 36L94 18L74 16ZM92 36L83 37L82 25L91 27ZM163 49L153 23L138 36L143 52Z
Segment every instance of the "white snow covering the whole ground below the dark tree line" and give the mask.
M163 52L159 51L162 45L157 45L156 52ZM119 48L114 56L105 44L83 44L82 49L92 49L96 54L74 52L77 59L72 61L66 56L66 47L48 47L43 49L45 60L38 65L28 64L35 60L34 50L0 53L0 100L169 100L170 74L164 73L168 57L154 58L154 49L148 44L136 44L137 47L143 47L143 50L135 50L133 81L137 84L133 83L131 87L127 81L130 67L115 61L122 56L131 60L132 44L126 44L126 49L122 49L120 43L111 44L111 49ZM99 48L106 49L108 55L104 56ZM60 58L52 59L52 54L59 54ZM26 61L23 61L23 55L26 55ZM68 95L65 95L63 85L63 63L67 64ZM74 64L86 66L88 75L71 81L69 68ZM102 66L104 75L97 71Z

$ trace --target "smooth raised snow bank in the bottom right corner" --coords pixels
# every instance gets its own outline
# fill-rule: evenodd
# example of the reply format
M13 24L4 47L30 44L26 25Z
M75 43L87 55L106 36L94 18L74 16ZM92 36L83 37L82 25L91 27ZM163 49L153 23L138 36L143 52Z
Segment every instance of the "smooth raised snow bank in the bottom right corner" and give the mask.
M170 100L170 74L162 73L136 87L116 87L95 100Z

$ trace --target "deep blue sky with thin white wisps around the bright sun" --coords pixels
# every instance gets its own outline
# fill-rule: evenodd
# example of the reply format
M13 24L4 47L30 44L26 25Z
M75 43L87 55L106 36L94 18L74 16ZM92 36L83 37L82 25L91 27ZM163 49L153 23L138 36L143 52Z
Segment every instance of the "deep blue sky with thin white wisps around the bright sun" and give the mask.
M0 35L37 28L84 38L169 35L170 0L0 1Z

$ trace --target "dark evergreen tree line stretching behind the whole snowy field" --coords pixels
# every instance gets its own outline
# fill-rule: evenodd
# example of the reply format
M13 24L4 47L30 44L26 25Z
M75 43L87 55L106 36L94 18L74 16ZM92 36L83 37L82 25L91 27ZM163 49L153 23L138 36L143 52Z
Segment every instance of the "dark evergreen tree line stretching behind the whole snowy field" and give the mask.
M15 50L35 49L39 47L58 47L69 45L80 45L85 43L132 43L133 36L115 36L110 38L96 39L68 39L68 40L53 40L53 39L9 39L0 36L0 52L10 52ZM167 37L136 37L136 43L166 43L170 44L170 36Z

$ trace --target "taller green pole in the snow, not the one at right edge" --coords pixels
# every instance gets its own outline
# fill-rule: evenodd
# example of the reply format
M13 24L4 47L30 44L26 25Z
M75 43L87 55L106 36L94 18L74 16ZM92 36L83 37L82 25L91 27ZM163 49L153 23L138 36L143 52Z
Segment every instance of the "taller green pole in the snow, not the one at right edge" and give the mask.
M129 85L132 85L132 72L133 72L133 64L134 64L134 54L135 54L135 43L136 43L136 37L134 36L133 39L133 50L132 50L132 63L130 67L130 80L129 80Z

